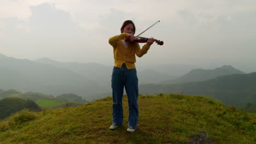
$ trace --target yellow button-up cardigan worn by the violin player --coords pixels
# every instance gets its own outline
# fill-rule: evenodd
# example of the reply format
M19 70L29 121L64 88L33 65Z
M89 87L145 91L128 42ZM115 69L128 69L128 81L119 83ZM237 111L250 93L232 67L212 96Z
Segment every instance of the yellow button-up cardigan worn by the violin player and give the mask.
M108 41L114 49L114 67L121 68L122 64L125 63L127 69L135 69L135 54L138 57L142 57L148 52L150 45L145 44L141 49L138 43L129 43L125 48L122 40L126 37L127 33L121 33Z

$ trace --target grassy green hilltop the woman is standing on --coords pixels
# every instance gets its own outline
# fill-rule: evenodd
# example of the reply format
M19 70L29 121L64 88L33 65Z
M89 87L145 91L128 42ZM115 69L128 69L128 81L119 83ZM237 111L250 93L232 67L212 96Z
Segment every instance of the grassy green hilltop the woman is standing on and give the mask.
M255 114L217 100L178 94L139 96L139 122L109 130L112 98L76 107L21 111L0 122L0 143L255 143Z

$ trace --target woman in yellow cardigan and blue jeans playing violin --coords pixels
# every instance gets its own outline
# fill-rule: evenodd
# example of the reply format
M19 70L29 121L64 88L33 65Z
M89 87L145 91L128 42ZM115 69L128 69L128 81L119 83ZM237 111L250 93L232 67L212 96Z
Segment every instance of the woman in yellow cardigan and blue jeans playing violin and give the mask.
M123 124L123 93L124 87L129 103L129 127L127 131L133 132L138 122L138 77L135 67L136 58L145 55L150 46L154 43L154 38L149 38L147 43L140 48L138 43L133 43L136 39L135 25L131 20L127 20L121 27L121 34L109 39L109 44L113 46L114 68L112 73L112 97L113 97L113 124L109 129L115 129ZM129 38L130 42L124 39Z

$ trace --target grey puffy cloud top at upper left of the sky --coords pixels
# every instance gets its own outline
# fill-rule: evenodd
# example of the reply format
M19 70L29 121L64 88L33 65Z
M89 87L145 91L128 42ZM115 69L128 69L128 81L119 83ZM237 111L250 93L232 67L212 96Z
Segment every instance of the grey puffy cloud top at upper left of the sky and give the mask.
M31 10L32 15L28 21L34 33L65 35L79 31L77 23L71 21L70 14L56 9L55 5L44 3L31 7Z

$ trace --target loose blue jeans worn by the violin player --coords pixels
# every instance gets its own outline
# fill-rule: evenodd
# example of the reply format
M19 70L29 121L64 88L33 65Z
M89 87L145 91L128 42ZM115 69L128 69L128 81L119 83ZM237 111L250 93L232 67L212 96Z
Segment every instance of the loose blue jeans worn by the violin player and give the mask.
M123 124L124 87L129 103L129 126L136 128L138 122L138 77L136 69L113 68L112 73L113 123Z

